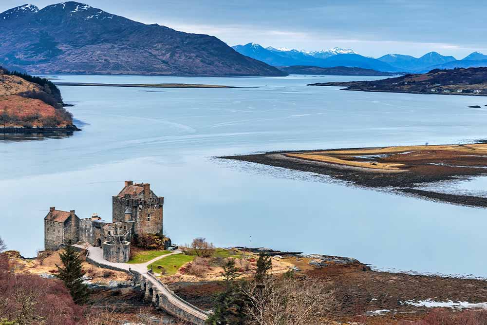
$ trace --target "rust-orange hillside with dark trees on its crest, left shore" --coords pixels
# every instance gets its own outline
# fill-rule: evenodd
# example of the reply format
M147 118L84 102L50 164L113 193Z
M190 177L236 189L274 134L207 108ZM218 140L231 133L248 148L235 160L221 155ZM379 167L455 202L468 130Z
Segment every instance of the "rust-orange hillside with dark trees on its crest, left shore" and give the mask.
M78 131L60 94L46 79L20 76L0 68L0 132ZM56 88L57 89L57 88ZM58 91L58 90L57 90Z

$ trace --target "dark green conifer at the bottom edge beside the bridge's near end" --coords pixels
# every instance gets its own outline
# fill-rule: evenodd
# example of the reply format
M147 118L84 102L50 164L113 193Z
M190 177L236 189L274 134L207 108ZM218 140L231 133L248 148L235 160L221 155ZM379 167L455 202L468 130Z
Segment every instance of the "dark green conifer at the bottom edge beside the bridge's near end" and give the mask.
M215 311L206 320L208 325L240 325L244 324L243 305L241 297L235 288L235 279L240 275L239 269L235 267L233 258L223 266L225 291L217 296Z

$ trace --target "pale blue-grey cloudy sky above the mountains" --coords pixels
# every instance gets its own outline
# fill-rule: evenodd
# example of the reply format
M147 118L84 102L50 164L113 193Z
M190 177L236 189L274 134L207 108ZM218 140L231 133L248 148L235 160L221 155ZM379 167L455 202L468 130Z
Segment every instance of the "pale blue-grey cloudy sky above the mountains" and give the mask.
M27 0L0 0L0 12ZM58 1L32 0L43 8ZM59 1L60 2L60 1ZM144 23L213 35L228 45L321 50L351 48L380 57L436 51L487 54L487 2L464 0L86 0Z

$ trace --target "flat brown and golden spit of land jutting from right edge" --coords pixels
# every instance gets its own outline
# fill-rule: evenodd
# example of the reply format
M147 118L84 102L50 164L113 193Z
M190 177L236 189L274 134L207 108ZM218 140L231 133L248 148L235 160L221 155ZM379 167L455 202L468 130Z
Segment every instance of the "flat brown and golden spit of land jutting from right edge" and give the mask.
M361 187L487 207L487 197L424 189L432 182L486 175L487 143L287 151L221 158L316 172Z

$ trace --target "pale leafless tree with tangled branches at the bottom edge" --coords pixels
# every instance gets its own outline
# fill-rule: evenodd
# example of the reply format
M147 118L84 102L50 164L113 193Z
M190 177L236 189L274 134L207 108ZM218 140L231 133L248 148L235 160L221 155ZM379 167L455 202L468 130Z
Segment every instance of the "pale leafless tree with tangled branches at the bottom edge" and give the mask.
M336 306L335 292L321 280L273 278L240 287L250 325L308 325L320 322Z

